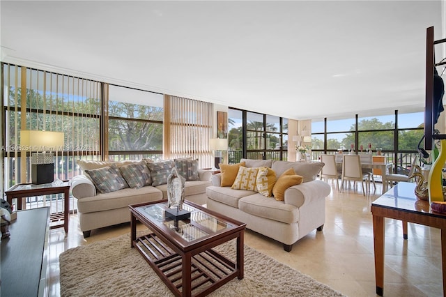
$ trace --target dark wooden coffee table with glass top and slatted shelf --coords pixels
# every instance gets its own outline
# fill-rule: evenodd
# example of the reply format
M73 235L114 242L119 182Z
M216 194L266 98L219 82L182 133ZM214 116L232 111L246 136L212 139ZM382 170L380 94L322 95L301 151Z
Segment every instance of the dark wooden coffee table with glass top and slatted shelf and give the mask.
M246 224L185 201L190 219L166 218L167 200L129 206L132 248L137 248L176 296L206 296L235 277L243 279ZM137 237L137 220L153 233ZM213 250L236 238L236 261Z

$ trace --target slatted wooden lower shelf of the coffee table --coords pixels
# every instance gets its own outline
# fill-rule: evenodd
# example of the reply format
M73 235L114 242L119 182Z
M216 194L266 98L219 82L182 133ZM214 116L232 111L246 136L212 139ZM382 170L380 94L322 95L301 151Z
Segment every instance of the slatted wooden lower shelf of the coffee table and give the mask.
M182 256L155 234L137 237L133 246L176 296L206 296L237 277L239 273L233 261L213 249ZM188 262L191 276L187 287L190 287L190 291L183 291L183 265L187 266Z

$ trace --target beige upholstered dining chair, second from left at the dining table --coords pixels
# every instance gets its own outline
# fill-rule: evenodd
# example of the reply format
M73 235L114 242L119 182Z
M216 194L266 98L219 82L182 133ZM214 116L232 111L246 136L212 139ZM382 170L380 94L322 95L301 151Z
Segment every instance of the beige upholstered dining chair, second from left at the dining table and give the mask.
M344 155L342 162L341 191L344 189L346 181L353 181L353 188L356 191L356 182L360 181L362 185L362 195L365 196L366 190L370 191L370 175L362 172L361 160L359 155ZM366 188L364 189L364 181Z

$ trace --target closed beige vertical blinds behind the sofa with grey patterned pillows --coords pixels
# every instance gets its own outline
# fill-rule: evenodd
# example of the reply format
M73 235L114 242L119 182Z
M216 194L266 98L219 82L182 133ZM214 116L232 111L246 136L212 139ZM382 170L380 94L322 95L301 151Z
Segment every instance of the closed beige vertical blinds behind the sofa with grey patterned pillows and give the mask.
M200 168L212 167L212 103L164 96L164 158L198 158Z

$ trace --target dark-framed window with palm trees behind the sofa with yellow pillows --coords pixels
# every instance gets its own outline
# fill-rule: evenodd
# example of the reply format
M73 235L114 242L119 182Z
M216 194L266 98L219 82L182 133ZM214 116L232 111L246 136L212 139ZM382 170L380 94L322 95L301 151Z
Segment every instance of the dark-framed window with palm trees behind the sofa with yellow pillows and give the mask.
M240 158L287 159L287 119L234 108L228 114L230 164Z

